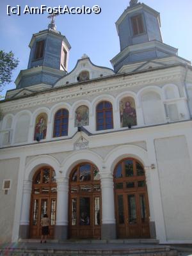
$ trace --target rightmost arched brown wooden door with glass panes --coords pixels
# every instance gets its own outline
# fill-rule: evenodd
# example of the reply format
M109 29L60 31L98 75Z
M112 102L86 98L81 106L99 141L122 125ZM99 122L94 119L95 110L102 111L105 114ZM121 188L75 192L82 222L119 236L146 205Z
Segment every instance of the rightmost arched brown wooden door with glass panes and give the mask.
M145 171L136 159L126 158L114 171L118 238L150 237Z

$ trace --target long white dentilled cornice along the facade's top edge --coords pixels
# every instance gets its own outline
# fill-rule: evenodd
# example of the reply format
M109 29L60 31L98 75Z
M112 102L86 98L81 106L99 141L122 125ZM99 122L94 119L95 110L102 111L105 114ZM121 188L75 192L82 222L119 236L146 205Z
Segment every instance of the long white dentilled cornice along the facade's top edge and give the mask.
M174 70L173 70L174 68ZM2 102L1 108L4 113L13 110L31 108L41 106L47 103L59 102L61 100L77 99L79 97L87 97L88 95L95 95L98 93L113 92L122 90L124 88L132 88L134 86L156 85L157 83L164 83L168 81L182 80L184 74L182 70L176 67L169 68L169 70L156 70L154 72L147 72L143 74L133 74L125 77L111 77L108 81L99 81L84 86L78 85L70 88L58 87L58 90L42 92L35 96L17 99L13 102ZM168 71L168 72L167 72ZM179 72L180 71L180 72ZM120 81L119 81L120 79Z

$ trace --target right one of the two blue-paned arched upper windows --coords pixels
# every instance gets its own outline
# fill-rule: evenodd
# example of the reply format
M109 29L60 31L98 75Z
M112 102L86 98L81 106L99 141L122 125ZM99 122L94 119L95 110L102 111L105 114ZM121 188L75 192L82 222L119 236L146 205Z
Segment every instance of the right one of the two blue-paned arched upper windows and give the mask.
M102 101L96 108L97 131L113 129L113 106L111 102Z

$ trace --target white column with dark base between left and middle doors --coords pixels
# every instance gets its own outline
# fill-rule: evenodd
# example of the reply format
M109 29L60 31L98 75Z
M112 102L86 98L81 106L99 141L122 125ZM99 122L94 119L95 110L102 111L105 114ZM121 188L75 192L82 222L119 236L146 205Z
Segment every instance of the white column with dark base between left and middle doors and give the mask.
M68 238L68 178L56 179L57 182L57 214L54 239Z

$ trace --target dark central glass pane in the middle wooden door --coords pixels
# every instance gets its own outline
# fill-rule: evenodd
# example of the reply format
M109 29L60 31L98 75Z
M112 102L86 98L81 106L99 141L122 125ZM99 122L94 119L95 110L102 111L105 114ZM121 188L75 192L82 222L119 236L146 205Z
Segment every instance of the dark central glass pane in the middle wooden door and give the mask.
M80 197L80 225L90 225L90 198Z

